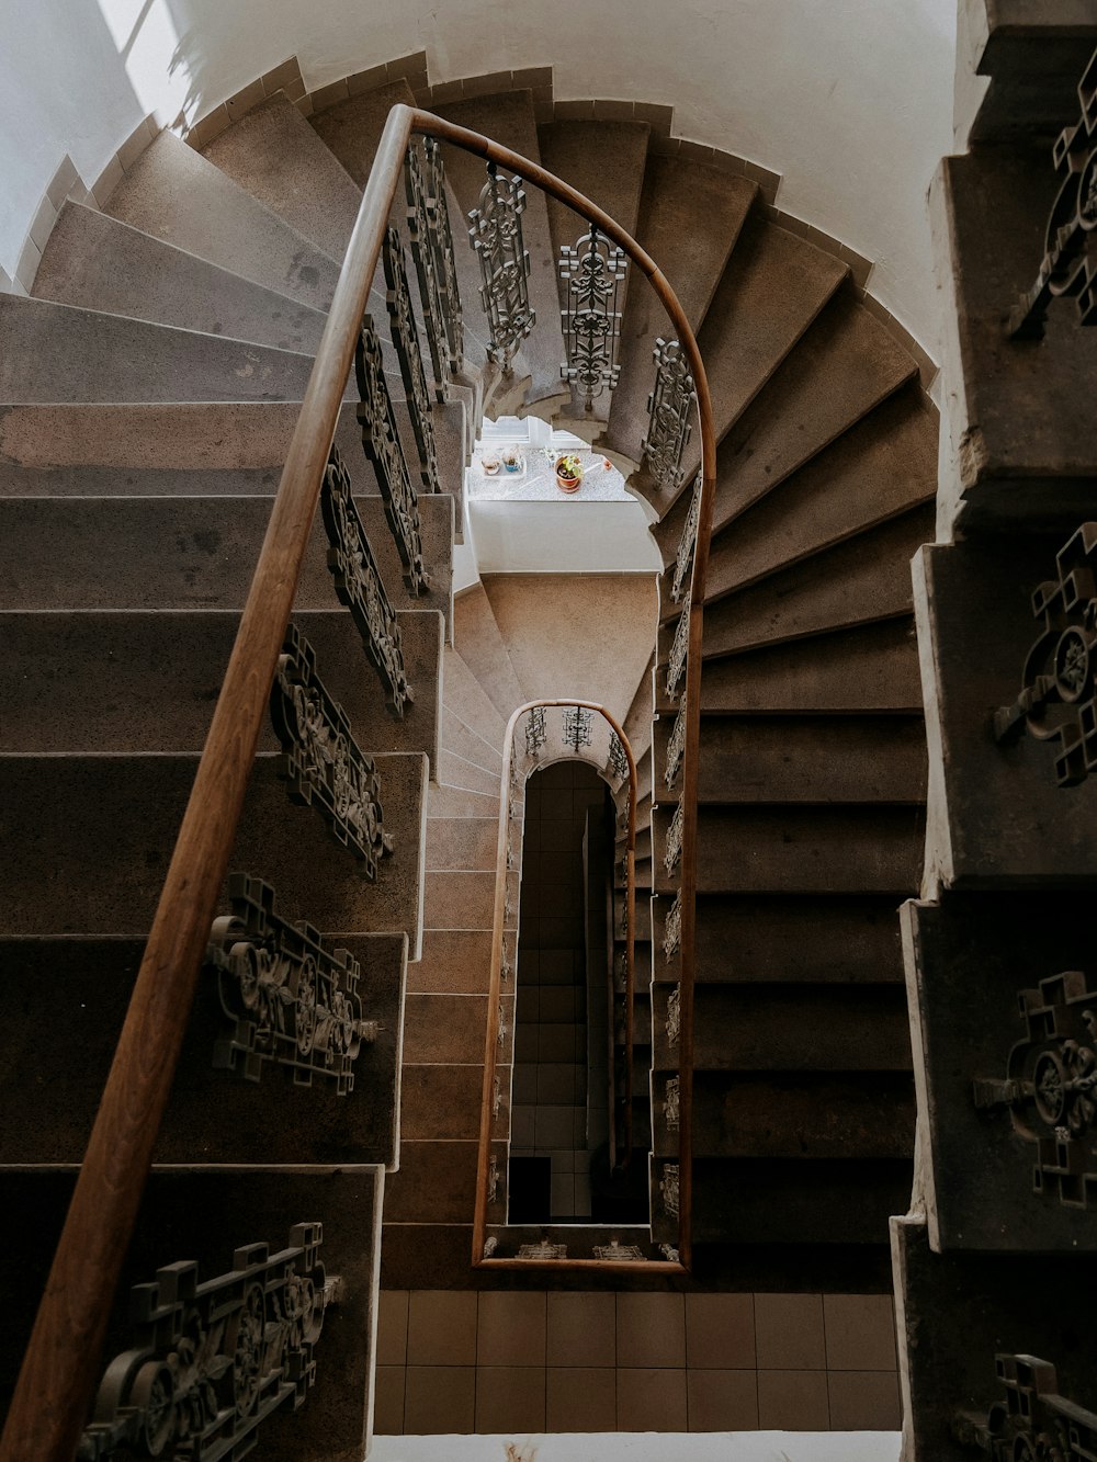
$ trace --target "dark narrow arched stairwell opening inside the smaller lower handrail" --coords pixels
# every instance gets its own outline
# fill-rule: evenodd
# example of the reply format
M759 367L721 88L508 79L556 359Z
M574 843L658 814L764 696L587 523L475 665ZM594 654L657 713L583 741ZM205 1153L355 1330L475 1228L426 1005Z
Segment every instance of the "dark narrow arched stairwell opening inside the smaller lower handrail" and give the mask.
M616 807L566 759L525 787L518 921L510 1224L646 1224L645 1164L613 1143Z

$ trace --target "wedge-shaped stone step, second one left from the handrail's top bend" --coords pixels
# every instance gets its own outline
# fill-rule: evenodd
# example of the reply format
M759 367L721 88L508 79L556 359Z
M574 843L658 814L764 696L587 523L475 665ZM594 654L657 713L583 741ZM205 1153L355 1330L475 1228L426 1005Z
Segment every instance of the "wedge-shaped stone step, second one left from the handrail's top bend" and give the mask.
M253 107L202 155L329 259L342 260L361 187L284 95Z

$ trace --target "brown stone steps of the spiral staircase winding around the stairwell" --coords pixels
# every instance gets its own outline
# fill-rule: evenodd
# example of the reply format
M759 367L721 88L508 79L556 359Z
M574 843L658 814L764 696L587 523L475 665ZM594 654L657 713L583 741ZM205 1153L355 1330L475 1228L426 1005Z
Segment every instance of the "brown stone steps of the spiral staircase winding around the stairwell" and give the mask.
M680 143L668 108L553 108L543 88L497 79L446 101L423 92L414 58L407 69L423 105L540 159L632 231L698 333L720 450L693 1272L714 1288L749 1276L753 1288L885 1289L886 1222L908 1205L914 1137L895 911L917 893L924 836L910 560L933 538L936 417L920 363L866 295L864 262L781 215L761 170ZM32 295L0 297L0 959L15 993L0 1164L20 1254L9 1314L29 1314L41 1287L380 129L393 102L415 101L398 70L316 98L275 92L214 137L196 130L203 146L161 133L102 208L64 205ZM483 170L452 149L446 165L456 221ZM312 810L285 806L269 737L234 855L275 885L287 918L332 934L369 972L364 1003L382 1028L360 1080L369 1099L347 1117L328 1095L266 1077L240 1088L237 1110L235 1088L230 1101L203 1082L196 1031L127 1262L133 1279L177 1253L215 1273L235 1244L276 1244L293 1222L323 1218L345 1287L320 1347L333 1380L265 1431L271 1456L361 1455L379 1246L386 1284L468 1282L500 749L529 696L606 697L642 754L638 883L652 898L641 892L638 921L638 1130L651 1132L654 1237L674 1234L663 1177L680 971L664 950L664 854L679 788L666 778L666 678L689 493L660 493L639 469L666 325L638 276L620 385L592 425L658 513L668 569L654 658L627 661L622 681L601 616L625 599L597 576L566 582L585 620L579 686L541 683L559 667L524 649L522 614L497 614L513 585L451 594L480 415L570 421L576 409L560 385L556 256L581 228L527 194L538 327L512 377L487 358L475 259L458 238L465 363L434 408L445 491L420 496L426 595L402 586L351 402L336 430L399 613L415 693L405 719L385 713L335 608L319 525L294 613L376 756L395 852L374 885L348 871ZM373 313L385 336L380 281ZM395 367L391 380L402 398ZM597 613L584 616L588 594ZM6 1330L9 1376L25 1333Z

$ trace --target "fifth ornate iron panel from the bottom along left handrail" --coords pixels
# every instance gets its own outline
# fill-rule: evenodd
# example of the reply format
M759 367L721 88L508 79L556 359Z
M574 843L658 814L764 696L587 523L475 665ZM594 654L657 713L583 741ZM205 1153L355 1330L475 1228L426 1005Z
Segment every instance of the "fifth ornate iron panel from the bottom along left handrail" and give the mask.
M385 516L404 564L404 582L408 586L408 594L418 596L430 588L430 579L423 567L418 500L399 442L389 383L385 380L380 341L369 314L361 322L354 351L354 374L361 398L358 424L361 425L363 450L377 474L377 487L385 499Z

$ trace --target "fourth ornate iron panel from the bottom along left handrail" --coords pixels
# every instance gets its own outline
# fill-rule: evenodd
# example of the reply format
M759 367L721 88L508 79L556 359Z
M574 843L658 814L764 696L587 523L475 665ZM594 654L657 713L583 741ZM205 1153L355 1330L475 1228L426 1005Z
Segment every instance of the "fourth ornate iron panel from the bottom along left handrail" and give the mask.
M335 579L335 594L339 604L351 611L366 655L380 675L385 703L393 715L402 716L404 706L415 696L404 665L399 620L389 602L377 560L373 557L370 539L358 516L351 475L335 446L323 472L320 512L331 544L328 567Z

